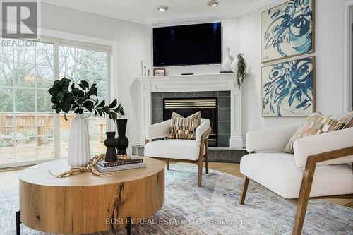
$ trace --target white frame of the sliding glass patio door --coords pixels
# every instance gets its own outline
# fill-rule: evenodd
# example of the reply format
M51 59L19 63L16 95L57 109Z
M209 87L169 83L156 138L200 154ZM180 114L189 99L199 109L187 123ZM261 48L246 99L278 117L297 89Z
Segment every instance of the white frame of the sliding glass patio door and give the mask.
M0 21L0 30L1 29ZM8 30L16 32L16 25L9 25ZM106 40L98 37L90 37L85 35L77 35L68 32L61 32L56 30L40 29L41 42L48 42L54 44L54 79L59 78L59 45L69 47L79 47L82 49L92 49L100 52L107 53L107 102L112 102L115 97L118 97L117 89L117 47L118 43L114 40ZM98 43L97 43L98 42ZM107 120L107 131L114 129L112 126L112 120ZM32 160L26 162L11 162L0 164L0 169L11 168L11 167L25 167L33 164L39 164L42 162L48 162L60 158L60 132L55 131L60 129L59 114L54 112L54 158L52 159L41 159Z

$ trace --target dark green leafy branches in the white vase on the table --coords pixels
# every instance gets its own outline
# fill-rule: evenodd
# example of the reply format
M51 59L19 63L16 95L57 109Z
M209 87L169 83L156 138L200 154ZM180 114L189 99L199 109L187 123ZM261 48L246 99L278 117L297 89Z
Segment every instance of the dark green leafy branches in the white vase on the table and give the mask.
M55 80L52 88L50 88L49 94L52 95L51 101L53 103L52 109L57 114L64 112L64 118L67 121L66 114L73 111L75 114L83 114L83 112L94 112L95 115L105 116L108 115L109 119L113 119L114 122L121 116L124 116L124 109L121 104L117 105L118 102L113 100L109 105L105 104L105 101L98 100L98 89L97 84L90 84L81 80L78 87L75 83L71 84L71 80L68 78L62 78L61 80Z

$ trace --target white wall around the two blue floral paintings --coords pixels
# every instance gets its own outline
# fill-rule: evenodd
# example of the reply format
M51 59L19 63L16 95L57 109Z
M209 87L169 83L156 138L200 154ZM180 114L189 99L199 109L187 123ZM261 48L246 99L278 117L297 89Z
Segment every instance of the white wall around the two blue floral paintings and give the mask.
M277 1L277 6L283 1ZM323 114L342 112L342 9L343 0L317 0L315 11L316 110ZM261 11L239 19L240 50L250 67L243 85L243 136L247 131L300 122L300 117L261 116ZM276 63L276 62L275 62Z

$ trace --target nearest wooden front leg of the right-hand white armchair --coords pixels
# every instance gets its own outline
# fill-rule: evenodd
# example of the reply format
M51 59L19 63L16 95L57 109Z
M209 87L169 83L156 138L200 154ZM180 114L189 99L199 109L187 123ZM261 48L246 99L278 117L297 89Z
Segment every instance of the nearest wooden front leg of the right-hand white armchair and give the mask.
M294 216L293 235L300 235L303 229L306 207L308 206L311 184L313 183L313 174L315 172L316 162L313 159L307 159L304 176L301 181L299 198L297 202L297 211Z

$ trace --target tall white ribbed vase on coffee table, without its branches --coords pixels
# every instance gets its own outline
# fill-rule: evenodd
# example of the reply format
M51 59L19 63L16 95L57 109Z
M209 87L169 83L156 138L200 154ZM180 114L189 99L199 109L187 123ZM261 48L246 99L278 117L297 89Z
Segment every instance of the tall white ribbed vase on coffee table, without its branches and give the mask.
M90 162L90 133L83 114L76 114L71 121L68 135L68 164L71 167L84 167Z

